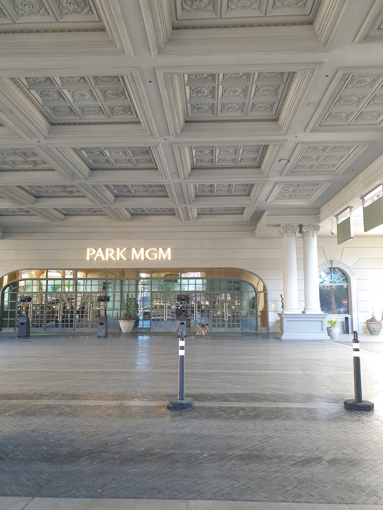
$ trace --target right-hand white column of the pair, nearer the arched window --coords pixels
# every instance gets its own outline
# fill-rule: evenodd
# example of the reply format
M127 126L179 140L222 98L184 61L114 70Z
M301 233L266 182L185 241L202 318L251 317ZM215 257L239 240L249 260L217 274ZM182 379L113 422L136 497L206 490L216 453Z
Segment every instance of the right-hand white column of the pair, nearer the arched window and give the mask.
M302 225L303 274L304 274L304 314L320 314L318 278L318 232L320 225Z

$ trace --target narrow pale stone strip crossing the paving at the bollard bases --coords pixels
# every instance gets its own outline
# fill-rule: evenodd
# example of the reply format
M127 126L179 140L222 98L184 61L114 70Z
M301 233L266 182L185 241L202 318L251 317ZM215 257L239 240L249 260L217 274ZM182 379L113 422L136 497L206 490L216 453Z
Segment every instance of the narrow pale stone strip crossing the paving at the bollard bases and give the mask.
M0 400L0 405L83 405L83 406L166 406L166 400ZM338 409L344 407L342 402L246 402L246 401L206 401L196 400L196 407L275 407L275 408L310 408L310 409Z

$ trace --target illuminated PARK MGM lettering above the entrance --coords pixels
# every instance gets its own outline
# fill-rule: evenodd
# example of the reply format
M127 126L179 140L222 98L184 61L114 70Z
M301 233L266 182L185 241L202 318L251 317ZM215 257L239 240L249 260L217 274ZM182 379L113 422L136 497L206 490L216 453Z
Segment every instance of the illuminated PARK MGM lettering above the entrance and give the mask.
M171 248L86 248L86 260L172 260Z

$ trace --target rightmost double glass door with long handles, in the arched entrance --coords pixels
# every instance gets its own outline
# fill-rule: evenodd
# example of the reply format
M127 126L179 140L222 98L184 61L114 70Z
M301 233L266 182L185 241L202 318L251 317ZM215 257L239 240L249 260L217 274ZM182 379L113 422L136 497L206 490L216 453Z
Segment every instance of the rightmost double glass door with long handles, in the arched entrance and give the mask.
M241 331L240 292L212 292L210 319L212 331Z

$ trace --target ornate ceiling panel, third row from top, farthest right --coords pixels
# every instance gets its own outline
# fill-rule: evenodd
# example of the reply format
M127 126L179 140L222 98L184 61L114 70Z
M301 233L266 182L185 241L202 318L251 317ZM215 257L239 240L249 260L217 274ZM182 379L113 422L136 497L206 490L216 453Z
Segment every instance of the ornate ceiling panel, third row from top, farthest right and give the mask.
M299 145L291 159L290 169L286 173L336 172L348 165L347 159L353 161L363 146L355 144Z

